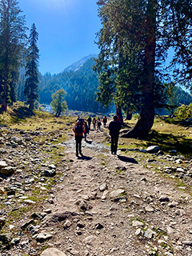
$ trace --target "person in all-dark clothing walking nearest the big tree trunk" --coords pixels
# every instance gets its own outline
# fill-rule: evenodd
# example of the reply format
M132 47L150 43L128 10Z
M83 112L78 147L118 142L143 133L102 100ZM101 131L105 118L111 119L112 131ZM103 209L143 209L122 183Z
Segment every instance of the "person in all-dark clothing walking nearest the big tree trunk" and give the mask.
M119 130L122 129L122 125L118 122L118 116L114 116L114 120L109 125L110 137L111 137L111 154L117 154L118 150L118 135Z

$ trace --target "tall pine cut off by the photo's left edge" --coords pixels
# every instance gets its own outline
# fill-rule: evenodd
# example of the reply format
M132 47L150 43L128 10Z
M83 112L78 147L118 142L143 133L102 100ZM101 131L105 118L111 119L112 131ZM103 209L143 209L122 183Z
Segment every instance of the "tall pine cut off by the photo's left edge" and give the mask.
M18 67L26 46L26 19L15 0L0 0L0 102L2 110L15 101Z

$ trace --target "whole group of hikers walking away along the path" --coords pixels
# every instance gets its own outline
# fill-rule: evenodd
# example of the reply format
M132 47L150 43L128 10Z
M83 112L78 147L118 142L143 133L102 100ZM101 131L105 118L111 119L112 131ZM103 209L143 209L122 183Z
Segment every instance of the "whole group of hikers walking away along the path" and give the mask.
M91 122L93 123L94 130L101 130L102 122L103 126L106 128L107 118L106 116L102 118L102 121L100 118L92 118L89 117L86 121L83 118L78 117L76 120L73 131L74 131L74 138L76 142L76 156L78 157L78 154L82 156L82 138L84 134L84 138L86 141L86 134L89 134L90 131L90 125ZM122 129L121 122L118 121L118 116L114 115L113 120L110 122L108 129L110 130L110 138L111 138L111 154L117 154L118 150L118 135L119 131Z

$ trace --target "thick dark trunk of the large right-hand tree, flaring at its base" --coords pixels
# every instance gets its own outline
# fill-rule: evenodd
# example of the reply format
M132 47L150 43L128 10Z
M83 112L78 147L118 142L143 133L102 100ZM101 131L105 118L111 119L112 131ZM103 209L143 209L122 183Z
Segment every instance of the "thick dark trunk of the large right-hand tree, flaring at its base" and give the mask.
M122 137L146 138L154 124L154 60L157 0L149 0L146 10L146 47L145 69L146 79L142 88L142 110L138 122L132 130Z

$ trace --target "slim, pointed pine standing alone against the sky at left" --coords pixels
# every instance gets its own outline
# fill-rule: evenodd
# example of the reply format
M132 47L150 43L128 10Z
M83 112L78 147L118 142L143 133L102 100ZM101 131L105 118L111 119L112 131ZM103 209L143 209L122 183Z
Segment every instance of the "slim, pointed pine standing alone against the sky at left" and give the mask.
M38 32L33 24L30 30L30 46L26 63L26 84L24 94L27 98L27 103L30 104L30 110L34 110L34 101L38 98L38 59L39 50L37 46Z

